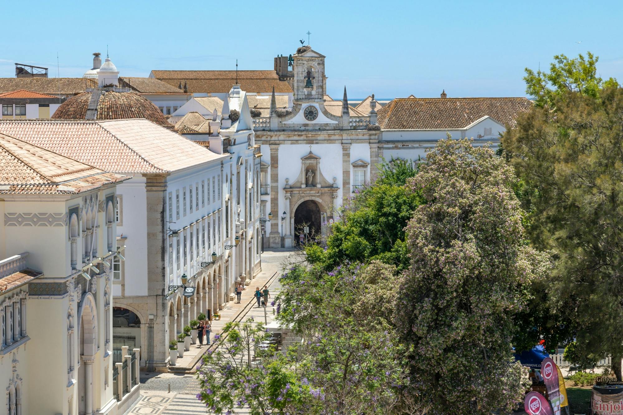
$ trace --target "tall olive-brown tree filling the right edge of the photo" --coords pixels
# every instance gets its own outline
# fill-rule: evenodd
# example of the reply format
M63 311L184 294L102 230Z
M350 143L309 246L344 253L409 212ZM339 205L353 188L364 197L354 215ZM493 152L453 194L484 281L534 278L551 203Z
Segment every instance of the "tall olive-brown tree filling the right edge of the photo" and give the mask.
M553 105L521 115L503 143L535 189L528 231L557 255L548 302L576 340L574 354L611 354L614 364L623 355L623 90L567 92Z

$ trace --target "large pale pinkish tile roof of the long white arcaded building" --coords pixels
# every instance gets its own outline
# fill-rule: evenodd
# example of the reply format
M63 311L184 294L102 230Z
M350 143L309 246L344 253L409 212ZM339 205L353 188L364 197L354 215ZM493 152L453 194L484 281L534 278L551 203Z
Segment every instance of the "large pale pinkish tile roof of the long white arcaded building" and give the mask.
M221 158L148 120L0 120L0 133L115 173L165 173Z

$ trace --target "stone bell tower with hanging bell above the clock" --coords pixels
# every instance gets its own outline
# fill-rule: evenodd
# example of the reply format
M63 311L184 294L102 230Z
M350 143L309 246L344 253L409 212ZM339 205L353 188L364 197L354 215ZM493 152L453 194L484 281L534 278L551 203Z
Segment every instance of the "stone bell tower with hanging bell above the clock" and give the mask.
M299 47L292 59L294 100L323 101L326 93L325 55L307 45Z

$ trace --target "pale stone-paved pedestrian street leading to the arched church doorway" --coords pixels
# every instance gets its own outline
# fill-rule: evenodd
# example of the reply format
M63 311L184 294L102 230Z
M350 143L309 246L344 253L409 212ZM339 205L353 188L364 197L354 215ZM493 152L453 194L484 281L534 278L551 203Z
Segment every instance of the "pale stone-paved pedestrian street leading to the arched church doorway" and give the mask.
M260 286L261 289L264 284L269 284L270 296L274 298L281 289L278 277L282 274L283 267L299 260L301 257L298 251L286 249L265 251L262 254L262 272L244 290L240 304L227 303L226 310L221 312L221 321L212 322L212 337L221 330L225 323L232 320L240 321L253 317L258 322L264 322L264 318L268 323L272 322L274 307L269 305L269 307L257 308L253 298L255 287ZM205 353L207 347L195 348L195 345L191 345L191 350L200 350L201 353ZM193 353L193 356L195 355L197 352ZM199 360L200 356L197 355L193 360ZM178 359L178 365L179 363ZM195 378L194 370L193 373L141 372L141 398L133 408L126 412L126 415L205 415L208 413L206 406L197 400L197 392L199 392L199 380ZM237 410L236 413L248 414L248 411L242 409Z

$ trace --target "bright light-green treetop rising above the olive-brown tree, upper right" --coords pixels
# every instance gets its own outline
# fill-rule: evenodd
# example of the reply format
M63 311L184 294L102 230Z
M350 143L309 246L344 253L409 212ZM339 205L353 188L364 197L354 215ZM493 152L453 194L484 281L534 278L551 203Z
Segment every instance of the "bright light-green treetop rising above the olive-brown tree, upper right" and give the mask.
M587 57L579 54L569 59L565 55L555 55L554 62L549 65L549 72L526 68L526 93L535 98L539 107L553 107L556 98L566 92L578 92L597 98L604 87L617 86L616 79L602 80L597 76L598 56L586 52Z

